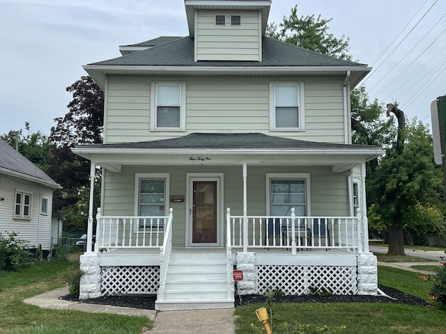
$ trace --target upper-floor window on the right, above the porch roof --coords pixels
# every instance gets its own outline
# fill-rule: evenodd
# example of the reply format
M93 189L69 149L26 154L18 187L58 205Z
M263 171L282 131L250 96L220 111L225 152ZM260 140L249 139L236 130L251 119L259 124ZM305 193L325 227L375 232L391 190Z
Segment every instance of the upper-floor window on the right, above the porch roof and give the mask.
M303 83L270 84L270 129L295 131L305 129Z

